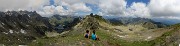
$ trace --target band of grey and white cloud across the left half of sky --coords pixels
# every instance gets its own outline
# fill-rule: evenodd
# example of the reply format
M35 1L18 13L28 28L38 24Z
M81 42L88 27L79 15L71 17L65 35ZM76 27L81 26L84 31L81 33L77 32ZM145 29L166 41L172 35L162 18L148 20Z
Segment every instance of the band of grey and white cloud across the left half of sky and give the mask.
M54 0L55 5L50 5L49 0L0 0L0 11L7 10L28 10L37 11L42 16L52 16L53 14L70 15L75 12L90 12L81 0ZM66 6L67 9L63 8Z

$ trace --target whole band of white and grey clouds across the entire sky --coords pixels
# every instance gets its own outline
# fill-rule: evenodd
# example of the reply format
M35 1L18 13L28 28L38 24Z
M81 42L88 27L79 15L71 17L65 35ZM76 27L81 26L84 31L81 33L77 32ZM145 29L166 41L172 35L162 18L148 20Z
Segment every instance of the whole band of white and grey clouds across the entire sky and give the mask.
M98 14L145 18L180 18L180 0L150 0L148 4L133 3L127 7L126 0L0 0L0 11L35 10L42 16L53 14L74 15L77 12L91 12L86 3L97 5Z

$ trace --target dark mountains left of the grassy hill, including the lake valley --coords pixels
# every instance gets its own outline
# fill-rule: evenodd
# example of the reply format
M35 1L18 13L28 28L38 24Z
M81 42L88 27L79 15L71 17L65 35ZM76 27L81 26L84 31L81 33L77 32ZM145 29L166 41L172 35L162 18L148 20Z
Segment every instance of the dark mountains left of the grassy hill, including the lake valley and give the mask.
M36 11L0 12L0 43L27 44L46 32L71 29L80 17L53 15L42 17Z

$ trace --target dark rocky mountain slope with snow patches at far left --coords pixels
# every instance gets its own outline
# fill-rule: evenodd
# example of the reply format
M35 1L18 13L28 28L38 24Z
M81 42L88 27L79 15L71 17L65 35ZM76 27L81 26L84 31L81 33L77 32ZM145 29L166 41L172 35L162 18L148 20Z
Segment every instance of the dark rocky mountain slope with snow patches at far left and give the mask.
M0 43L27 44L52 31L47 18L28 11L0 12Z

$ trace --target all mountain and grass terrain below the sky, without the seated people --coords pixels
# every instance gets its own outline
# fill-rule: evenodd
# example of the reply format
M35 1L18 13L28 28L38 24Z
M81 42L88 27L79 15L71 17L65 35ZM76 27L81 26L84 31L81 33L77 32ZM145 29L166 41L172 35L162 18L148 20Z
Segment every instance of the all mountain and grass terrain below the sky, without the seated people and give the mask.
M158 27L161 23L142 18L135 19L136 21L133 19L133 22L126 21L130 23L124 24L119 20L107 20L93 14L81 19L60 15L46 18L39 16L36 12L25 12L27 15L21 15L23 12L25 11L10 12L13 13L13 18L9 17L8 12L6 14L1 12L0 44L13 46L176 46L180 43L179 24ZM3 17L3 15L6 16ZM26 27L26 25L29 26ZM59 30L60 34L57 33ZM84 38L86 30L90 32L95 30L100 41Z

